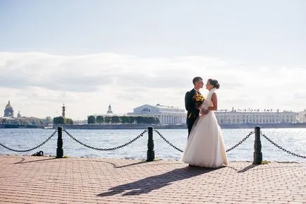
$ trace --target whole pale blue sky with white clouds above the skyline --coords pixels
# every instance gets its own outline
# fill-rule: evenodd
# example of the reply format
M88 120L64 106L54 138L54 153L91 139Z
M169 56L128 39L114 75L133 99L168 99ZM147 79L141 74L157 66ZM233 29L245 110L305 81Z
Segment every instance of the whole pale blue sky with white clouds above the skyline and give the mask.
M219 81L219 109L301 112L305 25L303 0L0 0L0 107L45 118L65 104L75 120L109 104L184 109L201 76Z

